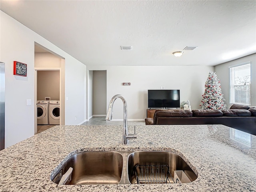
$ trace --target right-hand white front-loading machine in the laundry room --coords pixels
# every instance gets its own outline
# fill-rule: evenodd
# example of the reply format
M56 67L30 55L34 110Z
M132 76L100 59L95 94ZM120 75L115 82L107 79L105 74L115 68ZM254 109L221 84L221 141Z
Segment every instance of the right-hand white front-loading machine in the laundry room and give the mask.
M49 102L49 124L60 124L60 101L52 100Z

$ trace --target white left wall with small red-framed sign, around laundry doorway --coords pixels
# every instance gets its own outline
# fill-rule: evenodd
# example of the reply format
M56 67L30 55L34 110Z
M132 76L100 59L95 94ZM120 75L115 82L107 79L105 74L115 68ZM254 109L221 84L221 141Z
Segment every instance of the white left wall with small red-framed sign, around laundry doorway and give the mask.
M65 58L65 95L69 97L65 102L65 124L82 122L86 111L86 66L2 11L0 23L0 60L6 64L5 147L34 135L35 42ZM13 75L13 61L28 64L27 77ZM26 106L26 99L31 99L31 105ZM72 117L78 112L75 121Z

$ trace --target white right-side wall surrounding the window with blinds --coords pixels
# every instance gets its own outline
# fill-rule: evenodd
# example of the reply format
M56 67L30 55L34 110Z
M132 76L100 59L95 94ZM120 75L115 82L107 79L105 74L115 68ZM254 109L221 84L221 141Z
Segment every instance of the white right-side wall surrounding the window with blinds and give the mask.
M256 106L256 54L215 66L215 72L220 79L222 93L226 99L228 109L232 105L229 103L229 66L242 64L249 61L251 62L251 106Z

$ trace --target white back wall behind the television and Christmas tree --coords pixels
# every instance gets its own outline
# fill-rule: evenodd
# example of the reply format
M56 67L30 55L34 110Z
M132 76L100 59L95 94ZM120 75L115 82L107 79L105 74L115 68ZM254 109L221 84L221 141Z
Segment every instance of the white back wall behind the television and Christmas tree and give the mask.
M107 106L116 94L127 101L128 119L146 118L148 89L180 89L180 102L190 100L199 109L204 84L211 66L87 66L88 70L107 70ZM122 86L130 82L130 86ZM113 120L123 118L123 104L117 99Z

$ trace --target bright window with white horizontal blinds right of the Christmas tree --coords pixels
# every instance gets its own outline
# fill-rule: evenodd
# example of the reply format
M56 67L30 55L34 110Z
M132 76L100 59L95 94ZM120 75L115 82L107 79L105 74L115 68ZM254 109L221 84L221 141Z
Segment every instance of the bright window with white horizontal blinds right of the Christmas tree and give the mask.
M230 104L251 104L251 63L229 68Z

